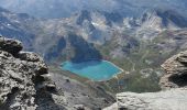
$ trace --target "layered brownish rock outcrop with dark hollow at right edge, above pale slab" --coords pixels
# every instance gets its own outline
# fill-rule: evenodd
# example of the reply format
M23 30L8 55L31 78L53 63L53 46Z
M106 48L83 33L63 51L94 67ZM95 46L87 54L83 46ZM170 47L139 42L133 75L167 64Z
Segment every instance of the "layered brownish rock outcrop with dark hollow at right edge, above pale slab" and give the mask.
M162 89L187 87L187 51L170 57L162 67L165 70L160 80Z

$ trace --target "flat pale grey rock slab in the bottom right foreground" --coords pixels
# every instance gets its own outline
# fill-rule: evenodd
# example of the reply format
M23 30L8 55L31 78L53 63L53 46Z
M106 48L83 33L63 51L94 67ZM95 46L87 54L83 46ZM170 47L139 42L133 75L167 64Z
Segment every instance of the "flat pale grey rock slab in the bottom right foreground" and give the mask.
M186 110L187 89L178 88L160 92L122 92L117 102L103 110Z

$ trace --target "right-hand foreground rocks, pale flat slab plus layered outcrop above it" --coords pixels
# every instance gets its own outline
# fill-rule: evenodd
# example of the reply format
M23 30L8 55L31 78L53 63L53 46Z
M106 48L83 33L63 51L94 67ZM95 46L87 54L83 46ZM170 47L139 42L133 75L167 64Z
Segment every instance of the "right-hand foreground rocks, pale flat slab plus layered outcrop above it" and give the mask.
M187 108L187 51L167 59L160 92L122 92L117 102L103 110L186 110Z

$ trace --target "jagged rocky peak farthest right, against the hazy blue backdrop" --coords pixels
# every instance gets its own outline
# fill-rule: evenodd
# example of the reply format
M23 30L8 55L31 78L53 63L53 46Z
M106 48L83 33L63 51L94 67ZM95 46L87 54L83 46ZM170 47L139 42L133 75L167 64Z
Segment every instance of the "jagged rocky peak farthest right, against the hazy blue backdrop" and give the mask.
M140 22L160 25L161 28L186 28L187 19L173 10L148 10L140 18Z

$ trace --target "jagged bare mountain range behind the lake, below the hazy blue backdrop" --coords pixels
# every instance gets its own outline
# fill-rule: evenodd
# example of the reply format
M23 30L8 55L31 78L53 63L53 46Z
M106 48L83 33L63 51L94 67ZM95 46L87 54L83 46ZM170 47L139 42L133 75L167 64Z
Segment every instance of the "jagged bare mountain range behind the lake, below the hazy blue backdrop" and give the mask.
M135 36L138 42L141 37L156 37L164 29L179 30L187 26L187 19L170 10L147 10L140 18L132 19L123 18L118 12L82 10L70 18L45 20L1 9L0 18L0 34L22 41L26 50L38 52L46 59L65 57L67 53L73 56L80 55L82 58L101 58L95 45L103 45L112 40L114 34L121 38L125 34ZM81 41L81 44L76 43L75 38ZM42 46L45 48L41 48ZM70 52L67 52L69 48ZM76 50L82 54L77 54ZM88 52L95 54L89 55ZM87 53L87 56L84 53Z

